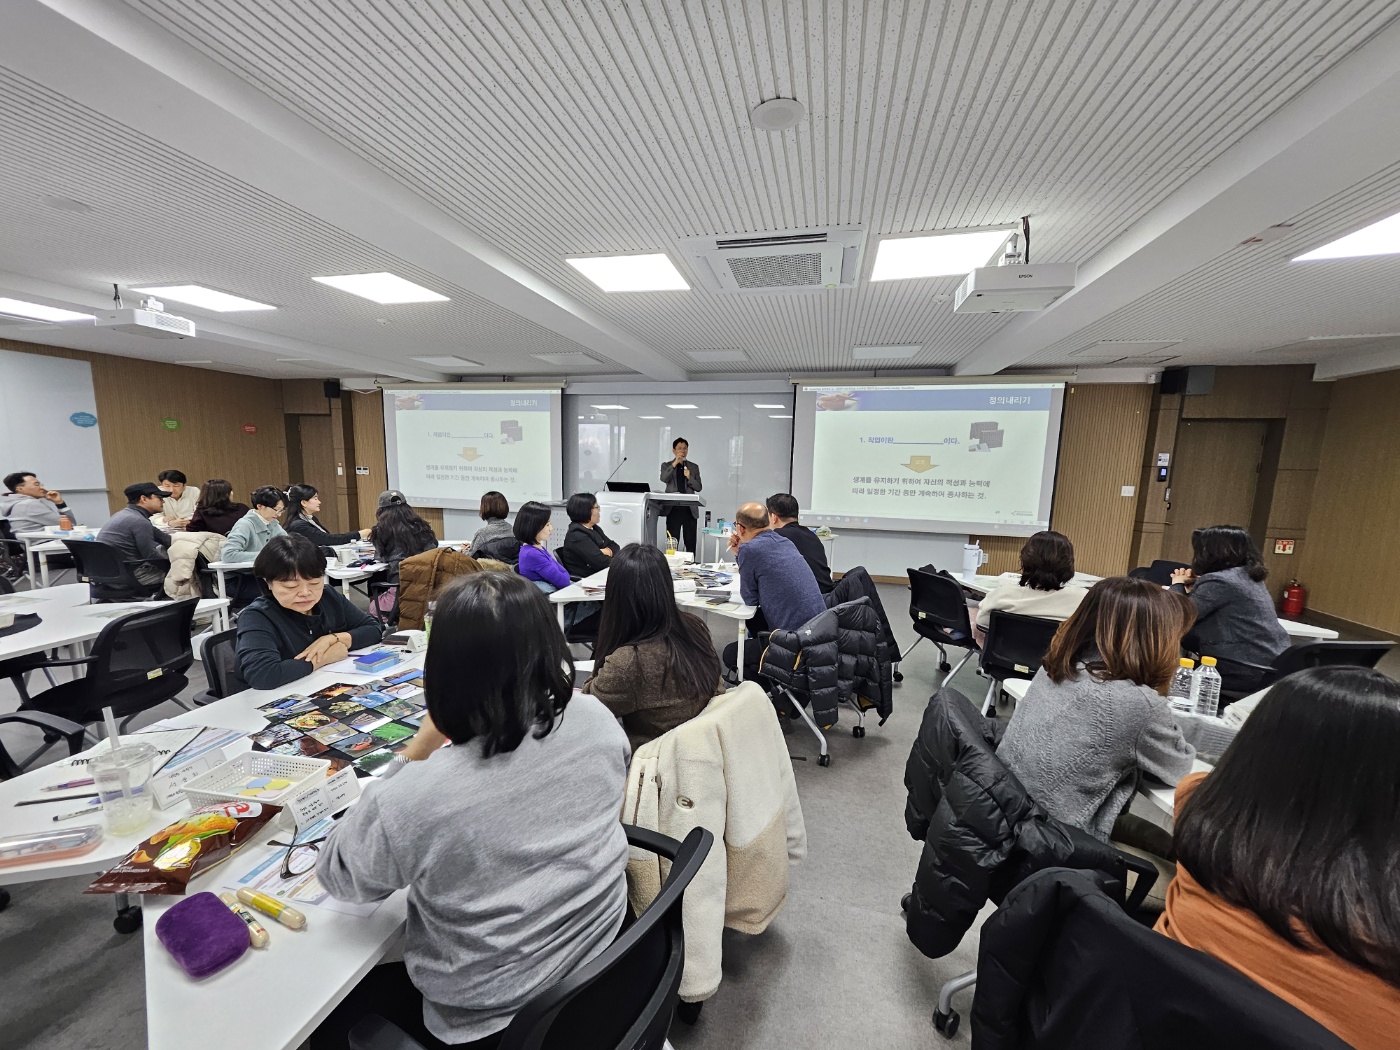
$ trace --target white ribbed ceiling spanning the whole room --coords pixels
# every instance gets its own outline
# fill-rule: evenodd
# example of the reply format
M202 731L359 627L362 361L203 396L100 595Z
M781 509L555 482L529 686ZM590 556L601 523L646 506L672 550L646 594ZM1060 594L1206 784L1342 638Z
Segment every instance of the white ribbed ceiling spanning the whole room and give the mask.
M806 119L753 130L774 95ZM1152 361L1375 358L1383 340L1309 336L1400 332L1400 256L1287 259L1400 210L1394 112L1390 0L10 0L0 294L91 309L113 280L193 281L280 308L168 304L202 326L186 343L3 330L269 375L435 378L412 358L458 354L673 379L916 343L889 364L1114 360L1075 353L1102 340L1173 343ZM659 248L685 269L692 235L1022 214L1032 258L1079 263L1081 287L1016 318L955 315L958 279L608 295L563 262ZM1294 231L1235 246L1274 223ZM378 269L451 302L309 280Z

